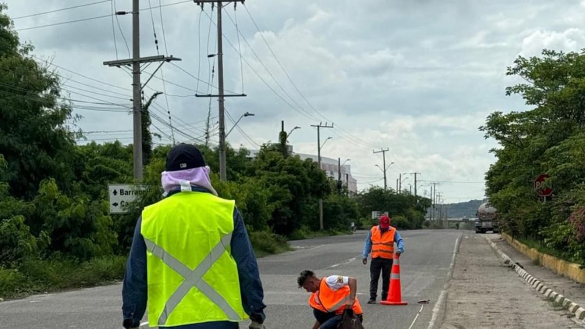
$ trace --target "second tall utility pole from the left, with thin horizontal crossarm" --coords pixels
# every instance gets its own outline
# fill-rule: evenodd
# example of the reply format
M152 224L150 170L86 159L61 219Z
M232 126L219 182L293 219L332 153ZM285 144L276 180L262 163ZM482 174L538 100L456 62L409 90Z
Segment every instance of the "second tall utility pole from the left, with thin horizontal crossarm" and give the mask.
M136 1L136 0L135 0ZM195 97L217 97L218 98L218 108L219 108L219 179L225 181L228 180L228 169L226 166L226 142L225 142L225 97L246 97L246 94L234 94L234 95L226 95L223 90L223 33L222 33L222 10L223 10L223 3L229 2L241 2L244 3L244 0L194 0L195 4L200 5L201 9L203 9L203 5L206 2L211 2L211 8L214 8L214 3L218 6L218 18L217 18L217 28L218 28L218 53L217 54L208 54L207 57L218 57L218 94L217 95L199 95L195 94Z

